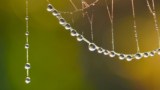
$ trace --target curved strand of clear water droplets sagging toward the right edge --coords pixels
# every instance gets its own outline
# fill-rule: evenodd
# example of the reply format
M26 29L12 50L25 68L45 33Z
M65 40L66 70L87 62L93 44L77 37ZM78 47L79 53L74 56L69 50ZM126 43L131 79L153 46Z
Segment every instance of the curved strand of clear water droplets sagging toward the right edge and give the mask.
M123 54L117 53L115 51L110 51L103 49L102 47L97 46L95 43L88 41L83 35L79 34L75 29L71 27L69 23L61 16L61 13L56 10L51 4L48 4L47 11L51 12L53 16L55 16L59 20L59 24L62 25L66 30L70 31L71 36L77 38L77 41L84 41L88 44L88 48L90 51L97 51L99 54L108 55L111 58L118 56L120 60L127 60L132 61L133 59L141 59L141 58L148 58L153 57L155 54L158 53L160 55L160 49L155 49L152 51L144 52L144 53L136 53L136 54Z

